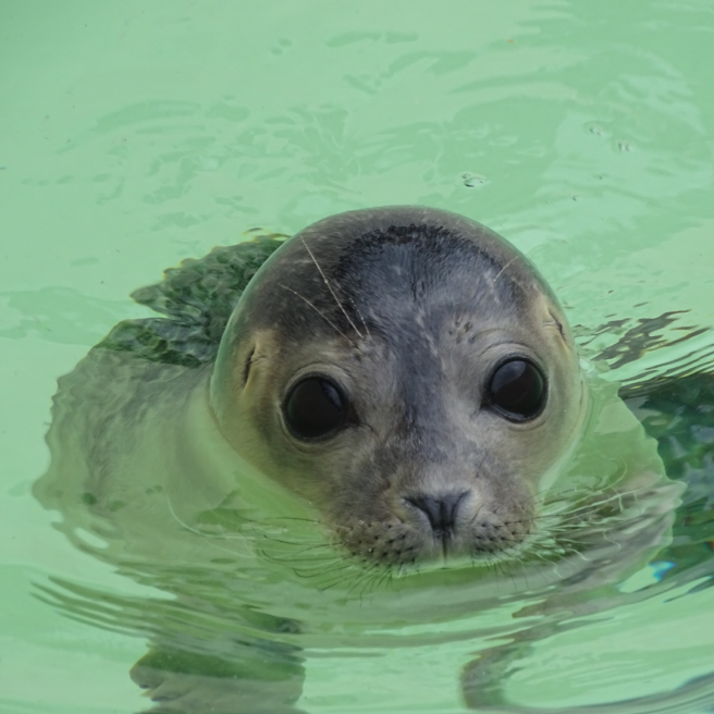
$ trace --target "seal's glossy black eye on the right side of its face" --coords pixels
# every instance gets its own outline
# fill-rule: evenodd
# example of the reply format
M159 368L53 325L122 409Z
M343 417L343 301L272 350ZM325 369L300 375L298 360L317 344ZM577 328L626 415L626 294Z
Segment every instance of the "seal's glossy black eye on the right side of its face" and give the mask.
M496 369L489 387L491 404L507 419L526 421L545 404L545 378L526 359L510 359Z

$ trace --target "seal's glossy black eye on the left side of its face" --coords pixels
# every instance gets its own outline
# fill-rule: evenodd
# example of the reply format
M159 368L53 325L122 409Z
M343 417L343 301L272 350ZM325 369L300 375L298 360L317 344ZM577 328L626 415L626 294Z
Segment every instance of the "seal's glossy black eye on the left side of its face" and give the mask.
M321 377L308 377L287 395L285 421L298 439L319 439L342 427L347 417L346 401L337 386Z

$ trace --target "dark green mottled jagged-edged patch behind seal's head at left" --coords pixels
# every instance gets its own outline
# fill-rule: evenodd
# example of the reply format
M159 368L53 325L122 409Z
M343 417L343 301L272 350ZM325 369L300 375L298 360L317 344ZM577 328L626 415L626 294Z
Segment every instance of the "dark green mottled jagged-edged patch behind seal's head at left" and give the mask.
M261 235L169 268L160 283L132 293L136 303L165 317L123 320L96 348L131 352L164 365L210 362L243 291L285 237Z

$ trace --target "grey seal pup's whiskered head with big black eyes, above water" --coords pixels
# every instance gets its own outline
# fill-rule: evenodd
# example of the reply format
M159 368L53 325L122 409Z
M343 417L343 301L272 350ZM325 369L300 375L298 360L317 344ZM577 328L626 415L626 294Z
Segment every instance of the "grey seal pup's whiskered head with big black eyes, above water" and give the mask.
M210 405L352 554L404 566L518 552L588 398L521 254L466 218L392 207L273 254L227 323Z

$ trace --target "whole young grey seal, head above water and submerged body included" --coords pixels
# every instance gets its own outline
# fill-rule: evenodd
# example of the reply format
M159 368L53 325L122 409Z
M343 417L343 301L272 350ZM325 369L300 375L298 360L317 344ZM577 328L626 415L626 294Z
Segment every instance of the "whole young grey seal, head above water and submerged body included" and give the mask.
M149 633L132 676L160 711L294 712L308 650L346 629L382 647L508 588L547 636L667 541L681 488L656 442L581 368L537 269L475 221L350 211L133 296L164 317L119 323L61 378L35 494L78 547L174 595L57 598ZM539 631L469 665L469 705L502 711L498 667Z

